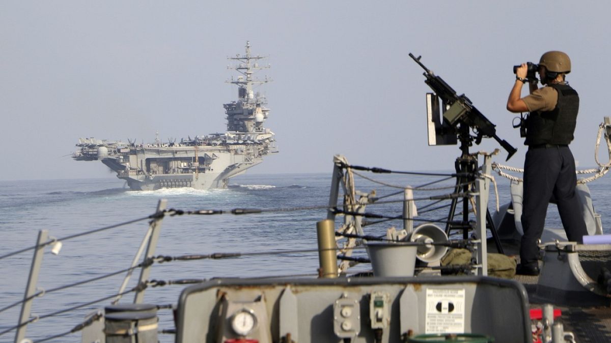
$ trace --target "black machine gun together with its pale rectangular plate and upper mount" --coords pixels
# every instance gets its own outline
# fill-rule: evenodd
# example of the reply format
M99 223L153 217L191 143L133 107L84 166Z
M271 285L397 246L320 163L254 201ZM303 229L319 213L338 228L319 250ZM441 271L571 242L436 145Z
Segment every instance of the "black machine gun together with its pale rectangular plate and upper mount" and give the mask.
M432 118L432 120L430 118L429 121L434 122L435 134L444 144L456 144L456 136L458 136L458 139L461 140L463 144L461 149L463 153L466 153L473 140L475 140L476 144L479 144L481 143L481 139L486 137L494 138L499 142L500 146L508 153L507 160L518 151L511 146L507 140L500 139L496 134L496 125L492 124L488 118L481 114L481 112L473 106L473 103L471 103L467 96L464 94L457 95L456 91L445 83L442 78L436 76L432 71L426 68L425 65L420 62L421 56L415 57L410 52L409 57L425 70L425 73L423 73L426 77L425 83L431 87L434 92L433 95L427 94L429 117L435 115L435 113L432 112L439 112L439 98L441 98L444 123L441 123L438 118ZM470 134L470 130L475 133L475 136ZM431 135L431 130L429 134ZM436 142L436 140L433 141ZM431 145L435 144L436 143L433 143Z

